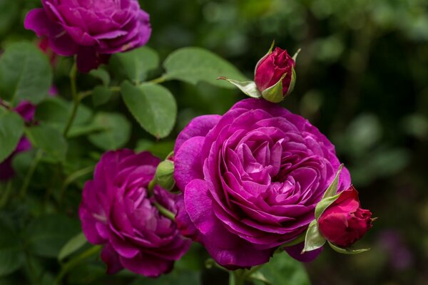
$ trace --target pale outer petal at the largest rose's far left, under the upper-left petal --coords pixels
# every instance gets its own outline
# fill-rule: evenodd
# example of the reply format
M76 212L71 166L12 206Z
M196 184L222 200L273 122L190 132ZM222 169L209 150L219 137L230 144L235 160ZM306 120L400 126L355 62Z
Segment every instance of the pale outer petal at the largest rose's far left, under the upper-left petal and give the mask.
M186 140L174 157L174 179L178 189L184 191L188 182L203 178L200 149L203 146L203 137L193 137Z

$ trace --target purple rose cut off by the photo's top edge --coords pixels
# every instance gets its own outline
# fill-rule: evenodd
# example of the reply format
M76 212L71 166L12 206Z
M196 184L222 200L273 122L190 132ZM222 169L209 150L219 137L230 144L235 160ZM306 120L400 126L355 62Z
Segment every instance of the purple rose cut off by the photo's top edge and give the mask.
M61 56L77 54L78 69L88 72L108 55L138 48L151 36L148 14L137 0L41 0L29 11L25 28L49 38Z

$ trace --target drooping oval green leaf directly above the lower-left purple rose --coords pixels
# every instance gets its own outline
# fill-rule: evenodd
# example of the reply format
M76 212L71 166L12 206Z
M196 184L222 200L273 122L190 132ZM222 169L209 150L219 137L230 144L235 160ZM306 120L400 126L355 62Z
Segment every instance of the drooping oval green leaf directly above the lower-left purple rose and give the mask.
M177 117L177 103L167 88L157 84L136 87L126 81L121 92L128 110L144 130L156 138L170 134Z

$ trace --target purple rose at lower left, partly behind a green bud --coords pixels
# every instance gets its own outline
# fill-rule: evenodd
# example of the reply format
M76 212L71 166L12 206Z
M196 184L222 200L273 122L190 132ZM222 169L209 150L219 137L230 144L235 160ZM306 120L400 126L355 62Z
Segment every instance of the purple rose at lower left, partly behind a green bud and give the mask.
M103 244L101 259L109 274L126 268L156 277L173 269L190 240L153 206L158 202L175 213L177 195L155 187L148 195L160 160L149 152L106 152L86 182L79 208L83 233L92 244Z

